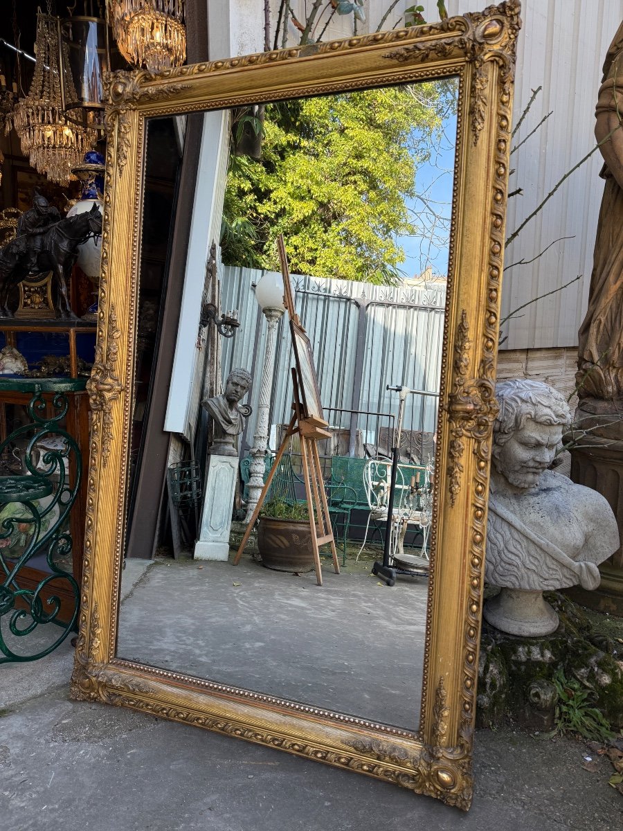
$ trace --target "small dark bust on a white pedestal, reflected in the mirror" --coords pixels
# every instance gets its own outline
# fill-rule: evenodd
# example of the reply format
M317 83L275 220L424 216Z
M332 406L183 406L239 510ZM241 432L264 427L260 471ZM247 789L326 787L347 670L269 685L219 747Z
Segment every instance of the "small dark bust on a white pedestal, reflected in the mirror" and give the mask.
M208 455L237 456L238 435L244 430L244 419L251 415L251 407L240 404L251 386L251 375L246 369L232 370L225 381L225 391L203 401L213 420L213 440Z

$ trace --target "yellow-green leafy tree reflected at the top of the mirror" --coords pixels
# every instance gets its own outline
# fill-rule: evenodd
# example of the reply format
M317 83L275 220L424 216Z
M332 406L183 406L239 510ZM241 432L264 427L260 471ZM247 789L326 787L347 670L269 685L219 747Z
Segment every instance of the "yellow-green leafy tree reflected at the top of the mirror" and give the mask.
M397 237L439 246L447 237L444 206L417 193L415 174L444 142L453 108L454 83L430 81L272 104L262 120L238 116L233 138L251 120L261 152L231 156L223 259L277 268L284 234L293 272L395 282L405 256Z

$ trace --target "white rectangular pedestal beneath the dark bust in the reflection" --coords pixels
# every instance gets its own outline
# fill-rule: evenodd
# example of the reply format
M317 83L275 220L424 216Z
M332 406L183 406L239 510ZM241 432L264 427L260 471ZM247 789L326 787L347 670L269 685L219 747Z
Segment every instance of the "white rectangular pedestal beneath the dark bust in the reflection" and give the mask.
M238 456L208 456L204 510L194 546L196 560L227 560L237 478Z

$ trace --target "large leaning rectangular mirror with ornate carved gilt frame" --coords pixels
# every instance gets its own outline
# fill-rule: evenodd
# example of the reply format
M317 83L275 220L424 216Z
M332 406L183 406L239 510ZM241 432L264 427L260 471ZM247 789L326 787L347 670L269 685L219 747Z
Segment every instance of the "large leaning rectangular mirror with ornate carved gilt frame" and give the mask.
M468 808L518 27L518 3L507 2L316 47L110 76L75 698ZM339 504L329 498L334 534L346 540L347 514L351 541L361 541L348 560L340 550L341 568L322 559L322 585L309 569L263 568L248 553L237 565L159 558L130 592L124 579L144 533L139 477L164 489L144 434L174 278L172 219L189 199L178 184L185 114L194 112L219 125L215 142L229 136L225 233L206 265L220 283L219 312L236 308L241 322L223 341L223 390L232 370L253 370L243 450L265 417L266 335L253 290L279 270L275 243L285 238L332 434L318 445L322 484L343 491ZM240 150L248 124L263 161ZM192 222L198 212L195 199ZM287 316L276 317L273 454L292 413L294 362ZM307 354L304 338L299 348ZM313 379L306 384L311 396ZM218 396L218 379L212 386ZM392 445L396 580L382 569L370 578L383 558ZM295 440L288 486L302 503L298 450Z

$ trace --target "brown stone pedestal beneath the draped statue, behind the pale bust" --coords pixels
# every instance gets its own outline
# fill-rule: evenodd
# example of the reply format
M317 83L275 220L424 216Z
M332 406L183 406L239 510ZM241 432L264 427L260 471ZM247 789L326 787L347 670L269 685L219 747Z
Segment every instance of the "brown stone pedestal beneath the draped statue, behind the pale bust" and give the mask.
M606 497L616 516L622 544L601 563L601 584L592 592L576 586L567 593L600 612L623 616L623 419L621 403L584 399L576 410L577 430L589 430L571 450L571 479ZM569 440L571 436L566 436Z

